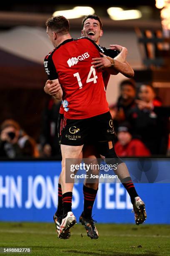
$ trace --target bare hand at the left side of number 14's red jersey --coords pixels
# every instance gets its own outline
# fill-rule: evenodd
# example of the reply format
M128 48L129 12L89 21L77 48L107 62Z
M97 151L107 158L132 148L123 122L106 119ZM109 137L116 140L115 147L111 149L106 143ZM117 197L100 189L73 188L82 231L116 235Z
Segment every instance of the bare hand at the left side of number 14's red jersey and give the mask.
M57 100L62 100L62 88L58 79L47 80L44 87L45 93L53 96Z

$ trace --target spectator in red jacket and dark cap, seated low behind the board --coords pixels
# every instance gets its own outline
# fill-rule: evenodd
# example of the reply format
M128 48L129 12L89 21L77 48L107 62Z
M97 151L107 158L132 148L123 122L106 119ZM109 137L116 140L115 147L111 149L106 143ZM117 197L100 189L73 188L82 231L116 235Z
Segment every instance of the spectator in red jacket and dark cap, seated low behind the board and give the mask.
M150 156L150 151L142 141L132 137L131 126L128 122L123 122L118 126L117 138L115 151L118 156Z

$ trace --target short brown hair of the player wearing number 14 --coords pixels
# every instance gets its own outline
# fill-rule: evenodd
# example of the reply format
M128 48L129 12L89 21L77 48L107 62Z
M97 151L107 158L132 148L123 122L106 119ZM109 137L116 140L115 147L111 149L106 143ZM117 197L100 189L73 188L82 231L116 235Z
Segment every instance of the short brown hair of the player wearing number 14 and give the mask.
M56 33L66 33L70 30L69 21L64 16L56 16L47 19L45 25Z

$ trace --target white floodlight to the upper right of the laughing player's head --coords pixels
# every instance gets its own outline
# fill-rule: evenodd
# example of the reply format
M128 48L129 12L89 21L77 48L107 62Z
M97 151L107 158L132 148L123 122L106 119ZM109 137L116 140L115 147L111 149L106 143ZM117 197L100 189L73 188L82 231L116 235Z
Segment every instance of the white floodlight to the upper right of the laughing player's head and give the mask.
M110 9L110 8L109 8ZM112 20L132 20L142 17L142 13L139 10L112 10L110 13L107 10Z

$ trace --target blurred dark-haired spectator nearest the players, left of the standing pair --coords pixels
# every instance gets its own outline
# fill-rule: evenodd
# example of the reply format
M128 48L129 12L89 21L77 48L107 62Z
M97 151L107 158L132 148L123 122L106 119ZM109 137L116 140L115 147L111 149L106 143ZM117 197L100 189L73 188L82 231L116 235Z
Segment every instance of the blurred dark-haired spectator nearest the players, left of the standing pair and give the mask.
M119 123L127 119L129 111L134 108L136 85L133 79L126 79L120 83L120 97L115 106L110 107L110 113L114 120L115 131Z

